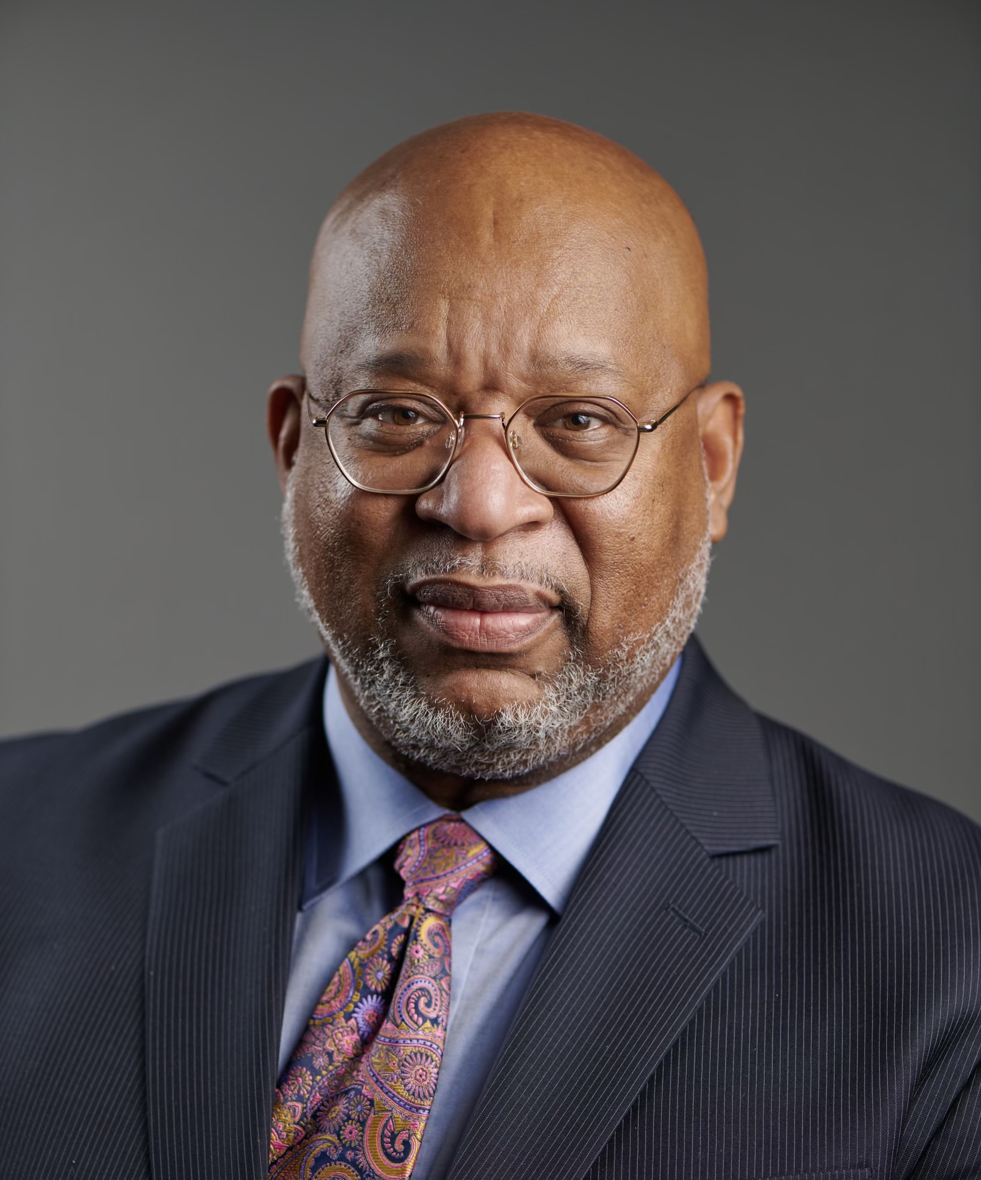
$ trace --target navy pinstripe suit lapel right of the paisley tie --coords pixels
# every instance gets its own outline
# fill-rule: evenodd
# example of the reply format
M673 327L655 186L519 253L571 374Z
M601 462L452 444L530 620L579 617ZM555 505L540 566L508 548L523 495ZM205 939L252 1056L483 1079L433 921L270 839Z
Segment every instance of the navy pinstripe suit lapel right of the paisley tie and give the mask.
M713 860L777 843L750 710L696 641L620 789L450 1168L584 1175L759 922Z

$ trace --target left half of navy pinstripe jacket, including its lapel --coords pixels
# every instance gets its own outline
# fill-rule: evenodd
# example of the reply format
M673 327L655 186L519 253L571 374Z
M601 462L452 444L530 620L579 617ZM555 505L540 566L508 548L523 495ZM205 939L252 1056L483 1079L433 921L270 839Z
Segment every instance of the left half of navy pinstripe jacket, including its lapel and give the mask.
M324 671L0 745L0 1176L265 1176Z

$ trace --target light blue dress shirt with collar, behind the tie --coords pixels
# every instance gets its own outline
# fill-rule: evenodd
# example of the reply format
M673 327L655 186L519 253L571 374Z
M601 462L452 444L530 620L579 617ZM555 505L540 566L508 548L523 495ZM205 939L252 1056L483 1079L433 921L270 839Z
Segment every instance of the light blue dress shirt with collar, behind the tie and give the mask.
M483 1083L573 884L634 759L678 680L680 657L638 715L595 754L522 794L462 812L506 861L453 914L450 1009L433 1108L414 1180L446 1174ZM324 728L341 789L340 870L297 916L279 1073L350 949L400 900L390 850L442 815L358 734L337 689L324 689Z

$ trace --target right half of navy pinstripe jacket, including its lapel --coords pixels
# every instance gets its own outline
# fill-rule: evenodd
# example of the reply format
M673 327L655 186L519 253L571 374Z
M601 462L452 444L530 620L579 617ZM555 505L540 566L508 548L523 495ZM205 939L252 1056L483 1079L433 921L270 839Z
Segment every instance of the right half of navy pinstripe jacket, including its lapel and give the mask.
M452 1176L981 1176L981 831L685 666Z

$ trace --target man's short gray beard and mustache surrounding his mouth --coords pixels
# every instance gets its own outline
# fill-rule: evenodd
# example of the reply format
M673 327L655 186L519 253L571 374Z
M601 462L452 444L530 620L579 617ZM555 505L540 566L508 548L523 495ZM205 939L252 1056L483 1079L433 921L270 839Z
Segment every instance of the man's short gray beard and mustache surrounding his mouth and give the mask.
M488 717L461 713L434 701L403 666L394 641L381 632L390 610L391 591L409 578L470 571L481 577L533 582L564 590L545 570L467 558L428 559L393 571L378 596L378 632L358 648L323 620L314 603L299 560L294 524L294 486L283 499L283 545L299 608L321 634L337 670L343 674L371 723L403 759L465 779L515 779L574 755L615 722L671 668L702 611L709 577L707 531L692 560L680 571L665 617L645 635L630 635L600 664L582 655L582 623L567 615L573 644L565 667L539 680L532 702L511 704ZM587 722L588 716L588 722Z

